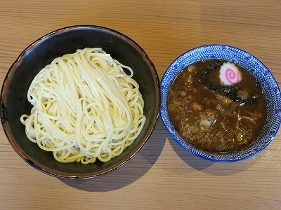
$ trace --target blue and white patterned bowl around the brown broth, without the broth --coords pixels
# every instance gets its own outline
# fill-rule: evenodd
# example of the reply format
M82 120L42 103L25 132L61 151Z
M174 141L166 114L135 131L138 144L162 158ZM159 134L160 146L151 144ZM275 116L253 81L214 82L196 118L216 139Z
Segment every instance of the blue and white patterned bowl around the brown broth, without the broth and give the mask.
M230 153L209 153L201 151L182 139L171 124L166 106L169 87L174 78L176 78L178 73L180 73L185 66L200 61L201 59L224 59L234 62L249 71L256 80L261 83L261 88L267 102L266 123L263 126L259 137L241 151ZM161 81L161 90L161 116L163 123L166 126L166 130L168 130L171 137L173 137L180 146L200 158L216 162L234 162L250 158L261 152L268 146L268 144L270 144L280 127L281 94L275 78L259 59L256 59L253 55L238 48L228 45L204 45L183 53L183 55L178 57L171 63L168 69L166 69Z

